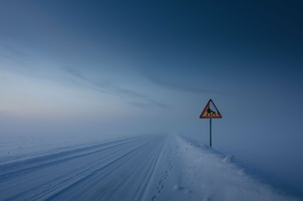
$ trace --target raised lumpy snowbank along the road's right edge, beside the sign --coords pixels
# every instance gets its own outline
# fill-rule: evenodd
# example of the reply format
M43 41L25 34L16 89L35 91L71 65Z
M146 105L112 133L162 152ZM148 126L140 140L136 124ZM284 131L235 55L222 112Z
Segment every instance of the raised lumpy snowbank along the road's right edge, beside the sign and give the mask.
M179 189L192 200L298 200L254 179L230 155L181 137L175 143L175 157L182 162Z

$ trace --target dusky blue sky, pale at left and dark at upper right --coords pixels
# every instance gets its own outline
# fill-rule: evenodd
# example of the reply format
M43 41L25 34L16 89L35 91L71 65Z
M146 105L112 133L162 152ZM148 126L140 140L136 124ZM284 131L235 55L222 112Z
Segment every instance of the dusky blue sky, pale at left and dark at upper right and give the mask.
M223 116L214 121L219 141L301 140L301 8L295 1L3 2L3 131L202 135L208 121L198 117L212 98Z

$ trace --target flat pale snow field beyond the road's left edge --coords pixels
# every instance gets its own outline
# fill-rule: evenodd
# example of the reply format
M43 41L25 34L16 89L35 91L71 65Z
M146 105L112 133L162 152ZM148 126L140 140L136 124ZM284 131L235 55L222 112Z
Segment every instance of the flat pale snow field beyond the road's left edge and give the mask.
M109 142L123 136L0 135L0 163L29 158L81 146Z

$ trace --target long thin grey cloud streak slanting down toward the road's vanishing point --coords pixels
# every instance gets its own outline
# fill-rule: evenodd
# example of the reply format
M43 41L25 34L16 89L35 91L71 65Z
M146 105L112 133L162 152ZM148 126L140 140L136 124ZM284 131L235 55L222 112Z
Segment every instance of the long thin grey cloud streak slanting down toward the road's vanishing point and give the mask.
M85 87L89 87L91 89L94 89L98 92L102 93L110 93L110 94L116 94L116 95L126 95L131 98L137 98L141 102L128 102L130 105L139 107L139 108L146 108L150 105L167 108L167 105L158 102L157 100L154 100L150 96L140 93L138 91L135 91L133 89L127 89L123 88L117 84L114 84L112 82L102 82L102 81L95 81L92 80L86 76L84 76L81 72L65 67L65 71L69 73L70 75L80 79L81 81L85 82L85 84L82 84Z

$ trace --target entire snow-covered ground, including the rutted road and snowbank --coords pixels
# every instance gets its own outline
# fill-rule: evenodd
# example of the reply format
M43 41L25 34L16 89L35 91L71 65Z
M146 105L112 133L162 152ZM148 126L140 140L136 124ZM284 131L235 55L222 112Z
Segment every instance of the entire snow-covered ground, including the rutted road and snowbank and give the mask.
M179 136L22 140L0 146L0 200L300 200Z

